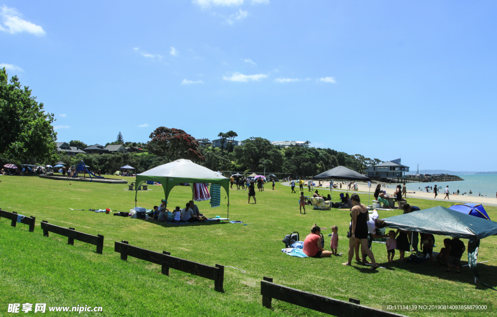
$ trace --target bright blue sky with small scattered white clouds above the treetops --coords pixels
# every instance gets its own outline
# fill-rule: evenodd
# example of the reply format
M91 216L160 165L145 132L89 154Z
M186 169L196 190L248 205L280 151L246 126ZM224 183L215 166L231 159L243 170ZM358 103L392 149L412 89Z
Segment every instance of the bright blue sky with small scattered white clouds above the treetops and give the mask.
M496 2L4 1L0 67L59 141L311 141L497 170Z

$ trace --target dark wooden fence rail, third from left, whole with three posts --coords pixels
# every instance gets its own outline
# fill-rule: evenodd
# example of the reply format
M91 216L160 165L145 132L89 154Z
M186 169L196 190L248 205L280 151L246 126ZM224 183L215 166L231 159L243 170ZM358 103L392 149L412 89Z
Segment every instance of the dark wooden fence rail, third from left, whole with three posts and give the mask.
M162 274L169 275L169 268L197 275L214 281L214 289L223 292L224 283L224 266L216 264L209 266L197 262L180 259L171 256L169 252L163 253L142 249L137 246L129 245L128 241L114 243L114 251L121 253L121 260L127 260L128 255L145 261L162 265Z

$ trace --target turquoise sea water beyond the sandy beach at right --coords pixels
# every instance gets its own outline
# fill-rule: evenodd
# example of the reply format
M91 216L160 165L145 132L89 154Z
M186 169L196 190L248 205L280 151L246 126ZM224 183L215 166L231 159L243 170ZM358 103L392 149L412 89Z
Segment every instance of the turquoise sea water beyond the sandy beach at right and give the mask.
M457 192L459 189L459 195L465 193L468 196L482 196L496 197L497 193L497 174L487 174L487 175L457 175L464 180L451 181L451 182L431 182L431 183L406 183L408 191L422 191L426 192L426 186L431 186L430 192L433 192L433 187L439 188L439 195L443 195L445 192L445 186L449 185L449 191L452 194ZM390 185L390 187L395 187ZM421 187L421 190L419 190ZM469 190L473 194L470 195Z

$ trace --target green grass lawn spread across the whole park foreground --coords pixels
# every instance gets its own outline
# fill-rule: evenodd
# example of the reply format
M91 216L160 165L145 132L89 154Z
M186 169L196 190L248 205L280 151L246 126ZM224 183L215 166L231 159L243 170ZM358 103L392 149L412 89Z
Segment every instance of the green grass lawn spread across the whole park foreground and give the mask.
M107 175L105 175L107 177ZM119 177L131 181L132 177ZM220 223L212 225L162 225L158 222L115 217L87 211L89 208L110 208L129 211L135 206L135 192L127 186L89 182L70 182L38 177L2 176L0 178L0 207L7 211L36 217L34 233L27 226L10 227L10 221L0 221L0 316L7 314L8 303L47 303L47 306L102 306L101 313L82 316L324 316L312 310L273 300L273 309L261 305L260 280L272 277L274 282L335 299L355 298L362 305L381 309L387 303L495 303L497 292L475 286L469 268L463 274L445 272L441 265L405 264L398 258L387 262L384 245L374 244L377 261L386 269L370 272L367 267L353 263L345 267L348 239L346 231L349 212L333 209L317 211L310 208L299 214L298 194L290 188L276 185L264 192L256 191L257 204L247 204L247 191L230 191L230 218L248 226ZM234 186L235 187L235 186ZM152 209L164 197L161 186L138 192L138 206ZM329 193L321 189L320 193ZM307 195L307 189L305 189ZM333 198L338 197L333 192ZM367 202L368 196L360 195ZM168 208L184 207L191 198L189 187L176 186L168 198ZM408 199L421 209L449 202ZM211 209L208 202L198 206L205 215L226 216L227 199ZM85 211L70 211L85 209ZM485 207L489 216L497 219L496 207ZM380 211L380 218L400 214ZM103 254L95 246L80 241L68 245L67 238L42 235L39 223L73 227L88 234L104 235ZM331 226L338 226L339 252L342 257L300 259L280 250L286 234L298 231L303 240L316 223L324 229L325 248L330 249ZM225 268L225 293L214 291L214 282L190 274L170 270L170 276L160 274L160 266L128 257L121 261L114 252L114 241L128 240L130 244L150 250L169 251L180 258ZM443 237L436 237L437 251ZM467 240L463 240L467 244ZM478 270L483 281L497 285L497 238L481 242ZM463 264L466 264L466 253ZM34 307L34 306L33 306ZM33 312L31 312L33 313ZM21 314L24 314L21 312ZM63 313L46 313L63 316ZM59 315L56 315L59 314ZM64 313L68 314L68 313ZM94 314L94 315L93 315ZM409 316L482 316L466 312L416 312ZM496 316L485 313L484 316ZM64 315L65 316L65 315Z

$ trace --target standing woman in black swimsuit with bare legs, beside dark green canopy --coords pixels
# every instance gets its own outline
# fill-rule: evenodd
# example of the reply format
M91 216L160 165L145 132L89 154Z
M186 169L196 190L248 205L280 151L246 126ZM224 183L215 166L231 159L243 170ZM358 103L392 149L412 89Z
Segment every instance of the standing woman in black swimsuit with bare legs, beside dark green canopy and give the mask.
M354 205L350 210L350 217L352 218L351 237L348 240L348 261L342 264L351 265L352 256L354 255L354 245L356 241L359 240L359 243L362 246L362 252L366 253L371 259L373 265L371 266L371 269L376 270L378 268L378 263L376 263L373 252L368 248L368 209L361 204L359 195L352 194L350 199L352 200L352 205Z

